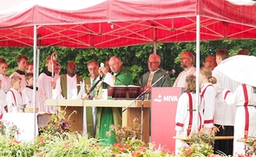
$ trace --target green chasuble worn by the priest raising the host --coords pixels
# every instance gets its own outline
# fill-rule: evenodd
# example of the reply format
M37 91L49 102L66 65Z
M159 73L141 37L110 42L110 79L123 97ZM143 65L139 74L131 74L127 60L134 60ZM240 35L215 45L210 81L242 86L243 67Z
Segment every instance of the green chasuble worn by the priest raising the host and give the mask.
M103 83L103 88L107 89L108 85ZM133 79L130 72L121 67L115 75L115 85L133 85ZM115 143L115 137L107 136L111 124L115 125L115 129L121 126L121 108L103 107L97 108L97 127L96 138L100 139L101 145L110 146Z

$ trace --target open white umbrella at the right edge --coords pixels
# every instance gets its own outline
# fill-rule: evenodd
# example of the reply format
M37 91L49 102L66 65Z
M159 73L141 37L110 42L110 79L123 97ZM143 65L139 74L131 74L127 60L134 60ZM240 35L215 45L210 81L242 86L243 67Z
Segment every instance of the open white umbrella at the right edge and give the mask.
M235 55L216 66L220 72L234 81L256 86L256 57Z

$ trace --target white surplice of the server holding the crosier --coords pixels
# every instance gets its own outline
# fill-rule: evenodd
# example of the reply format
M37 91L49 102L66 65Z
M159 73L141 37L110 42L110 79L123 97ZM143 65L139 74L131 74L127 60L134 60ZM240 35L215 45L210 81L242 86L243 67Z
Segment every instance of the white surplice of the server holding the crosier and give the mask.
M37 81L36 86L43 91L43 94L47 99L52 99L52 86L50 82L52 81L52 77L46 75L44 72L42 72ZM53 82L56 82L56 77L54 77ZM55 113L56 109L55 106L45 106L43 104L43 108L45 112Z

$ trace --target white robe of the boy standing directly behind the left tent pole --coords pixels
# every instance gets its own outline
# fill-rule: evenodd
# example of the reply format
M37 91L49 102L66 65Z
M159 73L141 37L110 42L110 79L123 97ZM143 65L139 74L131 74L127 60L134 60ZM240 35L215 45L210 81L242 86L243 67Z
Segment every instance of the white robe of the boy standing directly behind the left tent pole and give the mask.
M34 104L32 104L32 98L33 98L33 89L30 89L29 87L26 87L22 91L23 95L23 103L27 104L27 108L34 108ZM38 112L45 112L44 110L44 101L46 100L45 95L43 94L43 91L38 89L36 91L36 108L38 108Z

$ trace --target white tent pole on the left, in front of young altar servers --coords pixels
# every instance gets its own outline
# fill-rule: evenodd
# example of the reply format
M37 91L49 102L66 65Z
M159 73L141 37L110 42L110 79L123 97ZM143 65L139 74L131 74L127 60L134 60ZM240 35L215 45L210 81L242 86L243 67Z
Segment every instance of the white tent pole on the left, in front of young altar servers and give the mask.
M37 30L36 30L36 25L34 25L34 44L33 44L33 73L36 73L36 44L37 43ZM37 61L38 62L38 61ZM33 118L33 125L34 125L34 139L36 139L36 77L33 77L33 96L32 96L32 104L33 104L33 113L34 113L34 118Z

